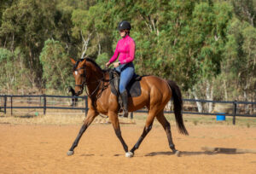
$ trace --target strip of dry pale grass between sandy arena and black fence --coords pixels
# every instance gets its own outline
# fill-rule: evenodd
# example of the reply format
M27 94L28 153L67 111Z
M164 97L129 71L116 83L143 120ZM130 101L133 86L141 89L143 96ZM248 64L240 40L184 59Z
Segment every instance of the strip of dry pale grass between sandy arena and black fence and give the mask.
M172 125L176 125L173 113L165 114L166 119ZM147 119L147 113L134 113L134 121L137 125L144 125ZM36 124L36 125L81 125L85 118L82 111L74 110L57 110L49 109L44 115L42 109L14 110L14 114L10 115L0 113L0 124ZM94 123L101 122L98 116ZM106 121L106 120L104 120ZM130 119L119 118L121 123L131 122ZM216 116L211 115L183 115L184 125L233 125L233 118L226 117L225 121L216 121ZM160 125L158 121L154 121L154 125ZM256 118L236 117L236 126L256 127Z

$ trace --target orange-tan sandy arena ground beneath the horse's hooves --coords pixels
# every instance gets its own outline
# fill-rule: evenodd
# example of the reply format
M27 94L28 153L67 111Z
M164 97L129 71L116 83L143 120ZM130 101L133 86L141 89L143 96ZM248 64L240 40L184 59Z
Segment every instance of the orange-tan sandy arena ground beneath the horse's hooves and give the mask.
M156 123L156 122L155 122ZM189 136L172 136L181 157L171 153L166 133L156 123L133 158L112 125L93 124L73 156L67 156L79 125L0 124L1 173L256 173L256 154L207 153L202 147L256 149L256 127L187 125ZM143 124L121 125L131 149Z

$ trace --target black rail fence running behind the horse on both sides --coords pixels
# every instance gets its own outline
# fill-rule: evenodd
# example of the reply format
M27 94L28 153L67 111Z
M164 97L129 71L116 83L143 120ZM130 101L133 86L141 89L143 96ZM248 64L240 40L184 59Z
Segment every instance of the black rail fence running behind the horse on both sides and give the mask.
M17 102L19 105L14 106L15 100L20 98L20 102ZM27 98L27 100L24 100ZM69 100L69 105L60 105L57 106L54 104L55 100L66 99ZM80 106L72 105L74 99L81 99L84 101L80 103ZM36 101L35 101L36 100ZM52 102L52 103L51 103ZM199 111L196 102L200 102L202 109ZM170 102L172 103L172 101ZM226 106L224 109L227 111L215 111L209 112L209 105L212 103L213 110L216 110L217 103L223 106ZM8 105L9 104L9 105ZM27 106L29 104L29 106ZM213 106L213 104L215 106ZM23 106L22 106L23 105ZM43 109L45 114L47 109L75 109L82 110L85 113L85 116L88 113L88 98L87 96L0 96L0 111L7 113L7 109L10 109L11 114L13 114L13 109ZM165 113L173 113L171 107L165 109ZM148 113L146 109L137 110L136 113ZM256 118L256 102L239 102L239 101L207 101L207 100L195 100L195 99L183 99L183 114L200 114L200 115L217 115L218 113L224 114L225 116L233 117L233 125L236 125L236 117L255 117ZM131 119L133 119L133 113L131 113Z

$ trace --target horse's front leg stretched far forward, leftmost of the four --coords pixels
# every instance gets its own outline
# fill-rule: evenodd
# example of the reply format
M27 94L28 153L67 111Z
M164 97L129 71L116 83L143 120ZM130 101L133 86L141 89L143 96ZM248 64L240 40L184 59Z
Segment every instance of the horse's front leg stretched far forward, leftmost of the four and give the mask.
M77 136L77 138L73 142L72 147L67 152L68 156L73 155L73 149L78 146L79 140L80 140L81 136L83 136L84 131L86 131L86 129L89 127L89 125L96 118L97 115L98 115L98 113L96 113L96 111L93 111L93 110L89 109L88 115L87 115L86 119L84 120L84 125L82 125L82 127L81 127L81 129L79 131L79 135Z

